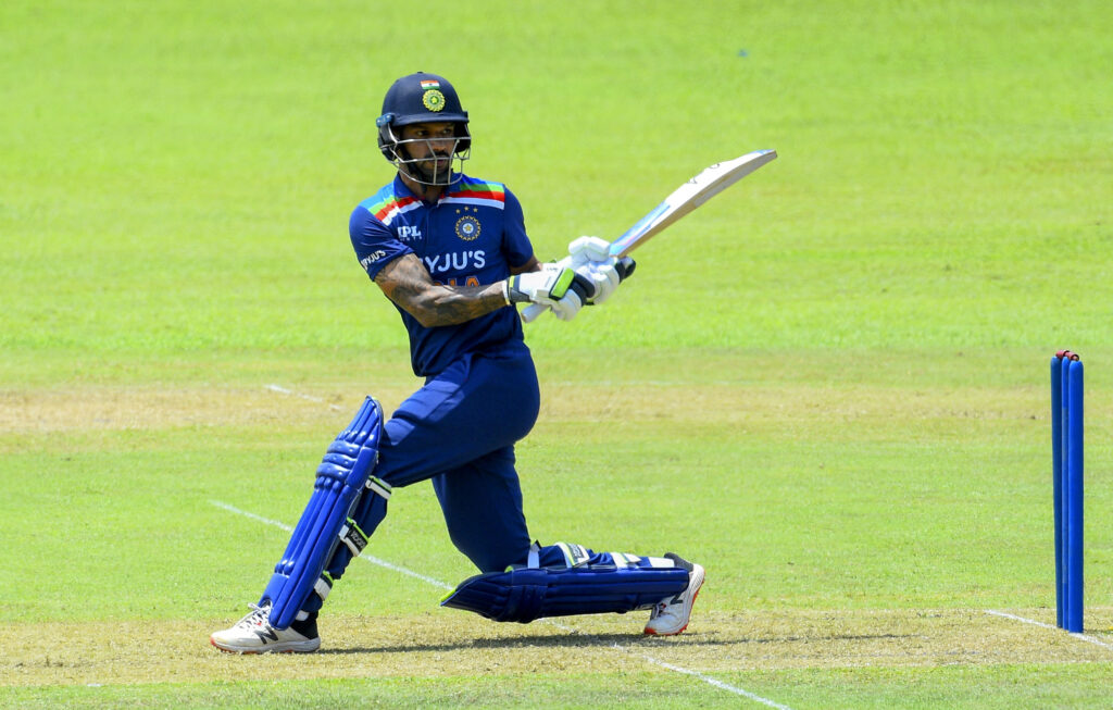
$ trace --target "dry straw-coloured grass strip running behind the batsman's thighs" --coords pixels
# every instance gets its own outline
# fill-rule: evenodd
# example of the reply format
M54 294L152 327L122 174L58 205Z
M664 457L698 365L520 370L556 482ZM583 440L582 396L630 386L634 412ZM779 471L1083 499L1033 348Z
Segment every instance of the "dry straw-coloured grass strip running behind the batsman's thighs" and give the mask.
M9 433L154 430L175 426L244 426L280 422L339 421L365 394L387 412L420 383L394 379L364 393L332 385L269 387L81 386L0 391L0 431ZM875 385L817 387L743 383L545 383L542 422L698 421L716 412L720 424L780 431L797 426L847 426L893 421L959 425L968 420L1042 418L1046 408L1032 392L904 391ZM1041 391L1042 394L1042 391ZM771 423L776 423L775 425ZM948 424L944 424L947 426Z

